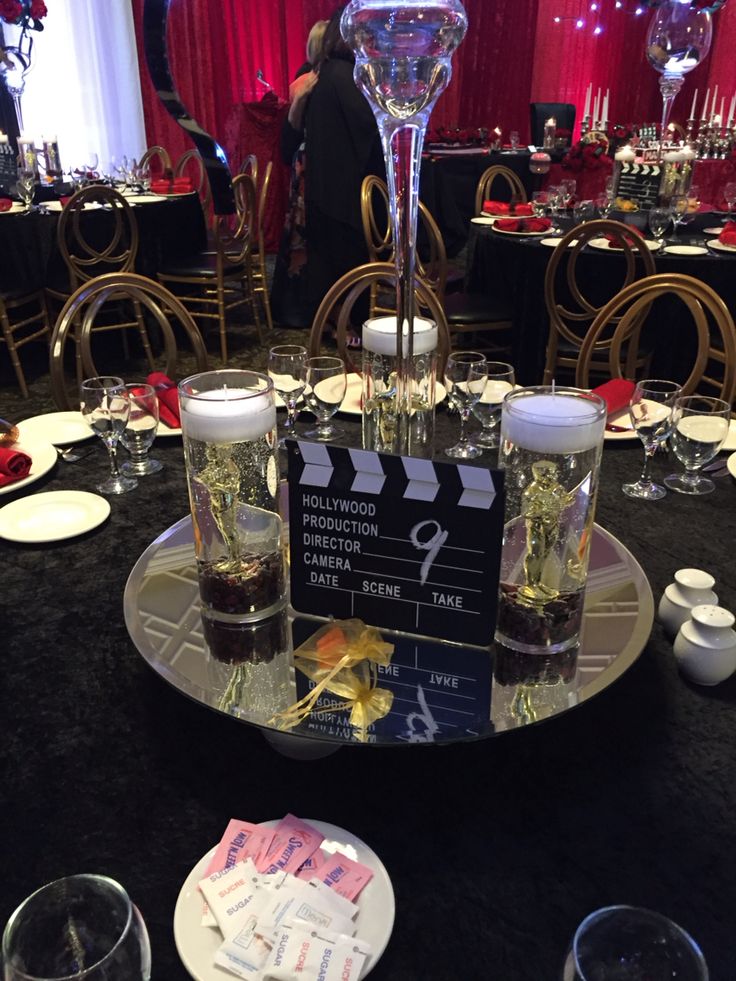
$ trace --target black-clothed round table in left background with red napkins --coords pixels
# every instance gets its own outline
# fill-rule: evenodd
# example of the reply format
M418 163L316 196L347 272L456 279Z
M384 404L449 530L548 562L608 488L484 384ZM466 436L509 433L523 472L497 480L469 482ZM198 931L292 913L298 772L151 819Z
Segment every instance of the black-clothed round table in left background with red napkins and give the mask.
M197 194L152 196L149 202L131 207L138 224L136 272L155 279L167 261L205 247L204 214ZM91 242L104 236L104 209L90 209L82 217L82 230ZM0 212L0 290L32 292L49 285L68 290L69 277L56 242L58 222L59 212L47 211L43 205L27 215Z

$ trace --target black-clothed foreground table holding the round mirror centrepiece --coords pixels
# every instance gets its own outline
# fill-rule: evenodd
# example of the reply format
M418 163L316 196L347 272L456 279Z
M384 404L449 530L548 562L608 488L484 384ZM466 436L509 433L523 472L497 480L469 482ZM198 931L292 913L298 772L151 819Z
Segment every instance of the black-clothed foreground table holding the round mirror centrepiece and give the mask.
M343 424L356 439L357 421ZM438 413L439 445L457 425ZM106 460L90 445L25 493L94 490ZM153 978L185 981L172 917L189 871L231 817L291 811L348 829L386 865L397 915L376 981L554 979L577 923L611 903L669 915L701 943L713 981L736 976L736 677L687 684L655 624L615 684L552 721L476 742L282 757L256 728L182 697L128 635L131 569L188 512L180 439L160 438L153 455L163 472L111 499L86 536L0 542L3 921L43 882L104 872L143 913ZM735 609L736 484L637 503L619 487L641 458L638 442L606 444L598 522L655 599L696 564ZM656 475L669 466L655 460Z

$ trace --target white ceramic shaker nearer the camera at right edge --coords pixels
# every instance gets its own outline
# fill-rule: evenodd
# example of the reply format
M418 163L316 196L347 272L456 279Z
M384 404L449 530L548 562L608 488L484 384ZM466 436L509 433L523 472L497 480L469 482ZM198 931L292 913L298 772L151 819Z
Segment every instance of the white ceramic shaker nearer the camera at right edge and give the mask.
M734 615L721 606L696 606L675 638L680 671L699 685L717 685L736 671Z

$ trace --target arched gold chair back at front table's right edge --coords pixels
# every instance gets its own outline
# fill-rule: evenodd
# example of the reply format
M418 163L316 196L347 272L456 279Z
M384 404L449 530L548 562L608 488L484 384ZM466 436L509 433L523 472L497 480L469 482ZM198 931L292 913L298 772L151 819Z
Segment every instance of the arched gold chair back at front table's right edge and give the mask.
M658 273L626 286L598 313L580 348L576 384L589 387L593 354L608 335L608 371L612 378L633 378L625 367L624 348L636 344L652 302L671 294L689 311L697 335L693 366L683 382L684 395L707 387L733 408L736 396L736 327L726 304L714 289L693 276ZM611 325L613 330L611 332ZM680 334L681 321L677 320ZM681 335L672 342L681 348Z

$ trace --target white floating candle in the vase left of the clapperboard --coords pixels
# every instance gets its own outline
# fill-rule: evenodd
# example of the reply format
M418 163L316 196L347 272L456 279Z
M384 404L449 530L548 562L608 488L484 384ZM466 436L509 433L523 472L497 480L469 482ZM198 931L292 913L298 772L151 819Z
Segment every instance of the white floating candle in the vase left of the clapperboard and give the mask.
M218 388L179 395L185 436L203 443L244 443L276 425L273 388Z

